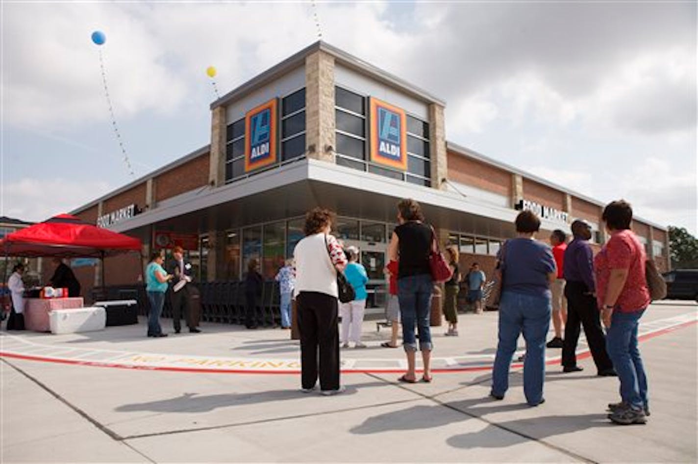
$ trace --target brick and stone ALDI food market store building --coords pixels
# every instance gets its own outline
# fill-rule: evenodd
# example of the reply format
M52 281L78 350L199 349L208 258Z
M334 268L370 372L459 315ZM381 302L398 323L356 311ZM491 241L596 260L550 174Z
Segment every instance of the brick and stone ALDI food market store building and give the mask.
M211 104L211 143L91 201L73 214L143 240L181 245L202 280L240 279L258 258L272 278L303 237L314 206L339 215L336 235L356 245L382 304L383 265L396 202L419 201L461 265L489 273L521 208L542 216L540 238L572 219L605 239L603 204L445 139L445 102L325 42L303 49ZM629 199L632 201L632 199ZM633 224L660 268L667 230ZM133 256L107 260L109 284L142 279ZM92 277L94 276L94 277ZM89 288L98 269L83 282Z

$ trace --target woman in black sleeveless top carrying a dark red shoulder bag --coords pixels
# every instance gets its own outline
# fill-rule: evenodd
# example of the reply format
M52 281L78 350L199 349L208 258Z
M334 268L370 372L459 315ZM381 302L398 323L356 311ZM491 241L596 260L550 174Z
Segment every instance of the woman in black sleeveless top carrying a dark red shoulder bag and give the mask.
M388 246L389 260L398 261L398 300L402 316L403 347L407 355L408 369L398 380L414 383L415 373L415 325L419 332L419 350L422 351L424 376L422 381L431 382L431 267L429 252L433 241L431 226L424 224L419 203L405 199L398 203L399 226L395 228Z

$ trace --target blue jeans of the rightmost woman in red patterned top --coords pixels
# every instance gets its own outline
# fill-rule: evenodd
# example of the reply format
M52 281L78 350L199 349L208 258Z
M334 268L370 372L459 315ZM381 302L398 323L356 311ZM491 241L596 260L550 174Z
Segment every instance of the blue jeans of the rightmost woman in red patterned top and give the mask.
M644 312L614 311L606 333L606 350L621 380L621 398L634 409L648 405L647 376L637 348L637 327Z

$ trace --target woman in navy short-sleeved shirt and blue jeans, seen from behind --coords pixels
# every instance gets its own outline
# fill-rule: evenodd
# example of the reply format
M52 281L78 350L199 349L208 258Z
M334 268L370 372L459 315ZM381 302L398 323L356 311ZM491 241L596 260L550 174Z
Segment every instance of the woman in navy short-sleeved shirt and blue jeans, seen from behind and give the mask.
M509 388L509 367L519 334L526 340L523 394L530 406L543 399L545 337L551 312L550 283L557 278L555 259L548 245L537 242L540 219L521 211L516 219L517 238L507 240L498 256L502 277L499 302L499 343L492 371L491 396L503 399Z

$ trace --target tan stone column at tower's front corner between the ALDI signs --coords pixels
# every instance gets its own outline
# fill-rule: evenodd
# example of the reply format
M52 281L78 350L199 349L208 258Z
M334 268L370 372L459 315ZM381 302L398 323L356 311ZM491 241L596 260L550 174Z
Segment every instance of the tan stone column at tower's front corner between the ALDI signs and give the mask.
M306 57L306 155L334 163L334 57L318 51Z

